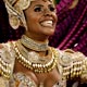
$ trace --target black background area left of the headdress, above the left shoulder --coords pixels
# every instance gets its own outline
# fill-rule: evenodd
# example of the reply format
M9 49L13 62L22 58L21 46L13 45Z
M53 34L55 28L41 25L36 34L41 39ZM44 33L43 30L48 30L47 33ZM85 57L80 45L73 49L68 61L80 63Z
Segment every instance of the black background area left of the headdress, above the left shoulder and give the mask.
M20 26L13 29L9 24L9 14L5 9L3 0L0 0L0 42L9 40L17 40L25 33L25 28Z

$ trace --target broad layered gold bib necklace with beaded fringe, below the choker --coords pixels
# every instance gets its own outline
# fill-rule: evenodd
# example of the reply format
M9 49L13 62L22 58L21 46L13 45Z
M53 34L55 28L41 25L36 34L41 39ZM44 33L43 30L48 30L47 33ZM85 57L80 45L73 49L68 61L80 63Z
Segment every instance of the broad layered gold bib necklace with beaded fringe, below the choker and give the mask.
M16 42L13 42L13 45L18 62L21 62L25 67L29 69L35 73L48 73L55 67L59 55L58 51L55 51L51 47L48 47L48 54L40 55L36 51L28 51L23 46L24 44L22 44L22 40L24 40L24 38L20 39Z

